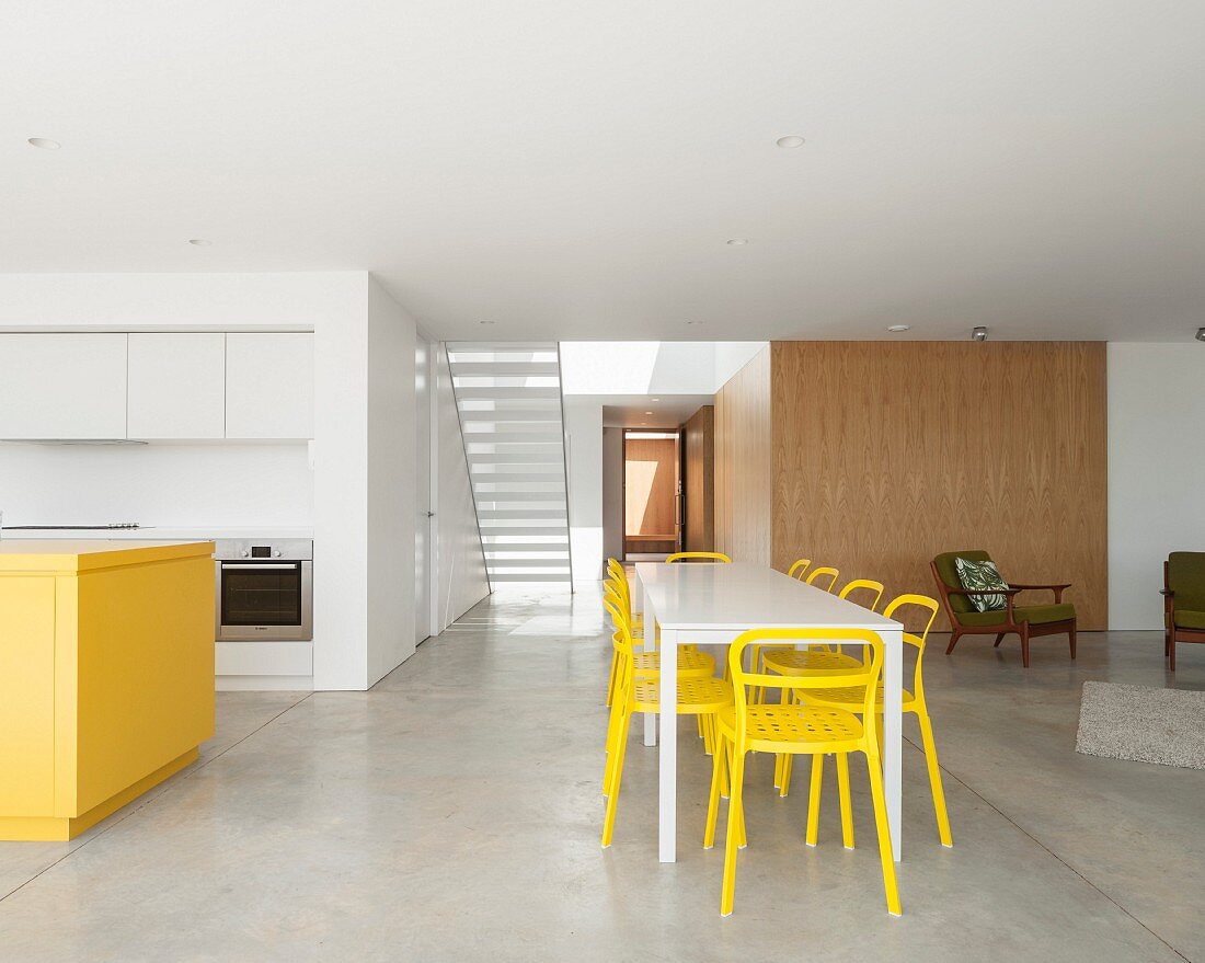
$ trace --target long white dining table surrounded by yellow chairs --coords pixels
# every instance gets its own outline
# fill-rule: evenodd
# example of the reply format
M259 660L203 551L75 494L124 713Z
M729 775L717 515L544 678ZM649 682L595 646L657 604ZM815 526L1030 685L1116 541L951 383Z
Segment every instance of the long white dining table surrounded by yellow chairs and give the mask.
M660 861L677 858L678 646L728 646L752 628L847 628L869 629L883 640L883 781L892 850L899 862L904 627L766 565L642 562L636 564L636 582L645 648L654 648L657 630L660 634ZM723 653L717 654L722 663ZM657 745L657 722L653 714L645 716L646 746Z

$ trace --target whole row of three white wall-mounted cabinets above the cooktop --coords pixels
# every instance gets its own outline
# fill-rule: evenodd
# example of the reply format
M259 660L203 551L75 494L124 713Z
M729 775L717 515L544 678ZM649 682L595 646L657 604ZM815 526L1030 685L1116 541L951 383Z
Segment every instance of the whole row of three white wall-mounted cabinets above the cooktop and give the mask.
M0 439L311 438L312 334L0 334Z

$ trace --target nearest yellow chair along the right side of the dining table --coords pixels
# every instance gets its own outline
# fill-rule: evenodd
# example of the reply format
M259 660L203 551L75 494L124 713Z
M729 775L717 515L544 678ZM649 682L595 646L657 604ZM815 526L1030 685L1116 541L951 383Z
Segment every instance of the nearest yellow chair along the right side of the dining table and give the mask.
M924 701L924 676L922 673L922 667L924 663L924 646L929 638L929 629L933 626L933 620L937 616L937 601L930 599L928 595L900 595L892 599L890 604L883 610L883 615L890 618L898 609L904 605L916 605L922 609L927 609L929 612L929 621L924 624L924 630L919 635L912 635L911 633L904 633L904 641L909 645L916 647L916 671L912 674L912 692L904 689L904 712L911 712L917 717L917 722L921 724L921 742L924 750L924 762L929 769L929 788L933 791L933 811L937 818L937 836L941 839L942 846L953 846L953 839L950 834L950 814L946 811L946 793L941 787L941 769L937 767L937 745L933 739L933 721L929 718L929 707ZM798 699L803 699L809 705L815 705L821 709L845 709L850 712L864 712L866 706L863 704L862 692L857 688L813 688L811 686L811 676L801 676L804 682L804 688L795 689L794 695ZM880 733L880 739L882 739L882 714L883 714L883 683L878 682L875 693L875 728ZM865 716L863 716L865 718ZM840 773L839 773L840 774ZM786 774L783 776L784 782L790 781L790 768L787 767ZM819 804L819 786L821 777L812 776L812 805L818 808ZM839 789L841 793L841 810L845 812L848 810L850 800L846 798L850 792L848 782L839 781ZM783 793L786 794L786 793ZM811 814L809 814L811 818ZM818 817L817 817L818 818ZM853 849L853 830L850 829L846 846Z

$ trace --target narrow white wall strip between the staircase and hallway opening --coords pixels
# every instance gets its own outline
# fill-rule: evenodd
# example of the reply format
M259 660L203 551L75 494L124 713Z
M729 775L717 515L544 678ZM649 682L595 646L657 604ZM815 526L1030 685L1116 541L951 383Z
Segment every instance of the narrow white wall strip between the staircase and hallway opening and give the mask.
M569 546L574 583L602 579L602 405L565 397L569 454Z

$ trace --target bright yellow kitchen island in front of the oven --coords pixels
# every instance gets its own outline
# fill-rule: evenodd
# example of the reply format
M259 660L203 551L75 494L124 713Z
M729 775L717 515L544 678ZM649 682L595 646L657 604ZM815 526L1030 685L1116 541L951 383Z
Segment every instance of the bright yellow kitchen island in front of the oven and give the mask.
M67 840L213 735L212 542L0 540L0 840Z

